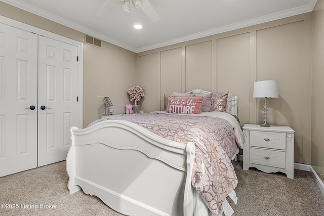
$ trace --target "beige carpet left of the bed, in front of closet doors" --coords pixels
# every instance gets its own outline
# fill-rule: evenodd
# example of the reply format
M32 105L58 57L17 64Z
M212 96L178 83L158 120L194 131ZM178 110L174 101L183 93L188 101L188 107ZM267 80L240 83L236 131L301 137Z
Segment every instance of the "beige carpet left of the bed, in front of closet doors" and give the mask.
M78 191L69 195L65 161L0 178L0 203L19 204L19 209L0 209L0 215L123 215L96 196ZM22 209L20 205L37 205ZM56 205L40 209L41 204Z

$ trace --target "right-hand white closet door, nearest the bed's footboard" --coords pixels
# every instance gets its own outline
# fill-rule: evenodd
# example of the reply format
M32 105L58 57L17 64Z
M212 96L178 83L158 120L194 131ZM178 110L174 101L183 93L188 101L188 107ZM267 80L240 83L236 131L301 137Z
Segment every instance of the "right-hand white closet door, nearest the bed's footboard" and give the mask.
M38 49L38 166L43 166L66 159L69 128L78 123L77 47L39 37Z

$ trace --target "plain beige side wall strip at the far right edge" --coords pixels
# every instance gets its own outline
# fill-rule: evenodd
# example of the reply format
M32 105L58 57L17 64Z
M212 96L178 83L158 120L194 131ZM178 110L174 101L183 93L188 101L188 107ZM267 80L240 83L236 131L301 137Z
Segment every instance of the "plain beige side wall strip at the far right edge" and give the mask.
M313 68L311 95L311 165L324 182L324 0L318 0L313 12Z

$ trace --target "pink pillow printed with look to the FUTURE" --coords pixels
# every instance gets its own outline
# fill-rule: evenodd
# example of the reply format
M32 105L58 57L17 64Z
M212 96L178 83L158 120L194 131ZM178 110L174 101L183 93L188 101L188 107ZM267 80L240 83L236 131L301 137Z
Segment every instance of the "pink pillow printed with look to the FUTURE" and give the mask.
M200 113L200 106L203 102L203 97L175 97L170 96L167 112L169 113Z

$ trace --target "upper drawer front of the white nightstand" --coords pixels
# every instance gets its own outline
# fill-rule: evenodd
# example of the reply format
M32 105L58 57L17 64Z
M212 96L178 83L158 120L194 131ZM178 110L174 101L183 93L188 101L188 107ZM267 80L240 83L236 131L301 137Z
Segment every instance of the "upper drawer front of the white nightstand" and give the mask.
M286 133L250 131L250 146L286 150Z

